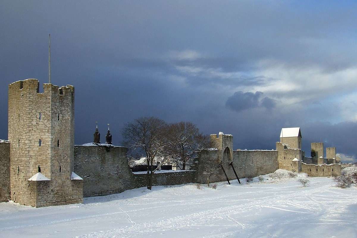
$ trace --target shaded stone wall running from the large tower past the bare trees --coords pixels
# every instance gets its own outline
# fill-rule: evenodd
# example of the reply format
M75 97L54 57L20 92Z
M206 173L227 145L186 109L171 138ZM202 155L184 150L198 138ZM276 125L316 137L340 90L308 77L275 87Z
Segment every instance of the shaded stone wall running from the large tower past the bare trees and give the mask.
M147 174L131 172L126 147L75 146L74 170L83 178L84 197L121 193L147 186ZM153 185L194 182L195 171L155 173Z

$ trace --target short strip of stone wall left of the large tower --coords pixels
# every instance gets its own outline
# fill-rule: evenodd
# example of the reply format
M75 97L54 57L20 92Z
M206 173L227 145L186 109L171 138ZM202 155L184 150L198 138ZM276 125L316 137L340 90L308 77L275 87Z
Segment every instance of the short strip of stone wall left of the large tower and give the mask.
M0 202L10 199L10 143L0 140Z

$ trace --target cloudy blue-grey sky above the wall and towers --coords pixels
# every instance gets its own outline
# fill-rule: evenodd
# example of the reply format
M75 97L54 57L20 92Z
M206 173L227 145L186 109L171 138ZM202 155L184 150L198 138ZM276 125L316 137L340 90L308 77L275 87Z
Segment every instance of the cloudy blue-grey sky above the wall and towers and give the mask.
M5 1L0 9L0 138L7 84L75 86L75 143L139 116L192 121L272 149L301 127L353 161L357 133L355 1Z

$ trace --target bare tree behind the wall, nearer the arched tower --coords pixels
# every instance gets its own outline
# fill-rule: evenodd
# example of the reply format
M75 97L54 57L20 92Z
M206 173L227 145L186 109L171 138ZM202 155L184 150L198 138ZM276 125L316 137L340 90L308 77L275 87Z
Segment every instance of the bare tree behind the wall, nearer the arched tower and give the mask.
M186 163L191 161L197 152L210 145L209 136L200 133L192 122L168 125L167 140L169 142L168 153L177 164L182 163L180 169L186 169Z

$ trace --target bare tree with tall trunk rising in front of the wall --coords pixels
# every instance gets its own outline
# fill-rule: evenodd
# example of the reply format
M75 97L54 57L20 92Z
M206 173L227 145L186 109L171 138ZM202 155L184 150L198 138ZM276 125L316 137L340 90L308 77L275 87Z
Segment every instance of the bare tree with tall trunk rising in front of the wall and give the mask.
M154 172L166 163L170 157L167 152L167 125L156 117L140 117L127 123L122 130L123 144L128 147L129 154L146 157L147 189L151 190ZM154 169L155 158L163 158L159 166Z

